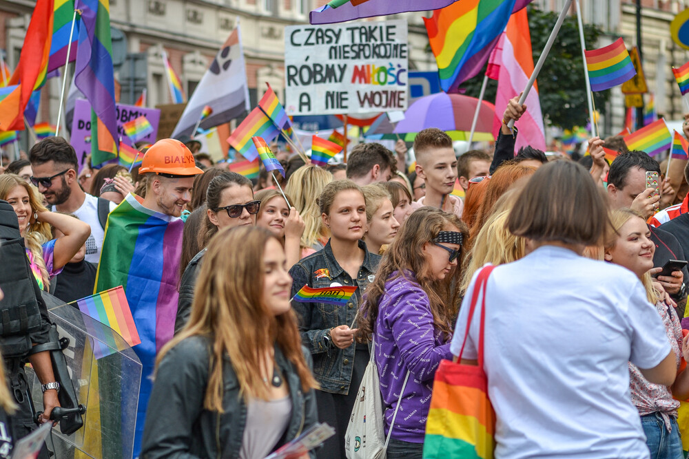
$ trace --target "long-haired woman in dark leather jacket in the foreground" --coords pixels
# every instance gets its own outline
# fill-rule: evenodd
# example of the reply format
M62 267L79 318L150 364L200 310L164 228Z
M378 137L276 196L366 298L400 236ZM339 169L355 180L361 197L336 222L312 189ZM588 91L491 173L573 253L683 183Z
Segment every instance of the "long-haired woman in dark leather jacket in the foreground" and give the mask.
M316 423L318 384L290 286L269 231L213 238L189 323L156 359L142 458L263 459Z

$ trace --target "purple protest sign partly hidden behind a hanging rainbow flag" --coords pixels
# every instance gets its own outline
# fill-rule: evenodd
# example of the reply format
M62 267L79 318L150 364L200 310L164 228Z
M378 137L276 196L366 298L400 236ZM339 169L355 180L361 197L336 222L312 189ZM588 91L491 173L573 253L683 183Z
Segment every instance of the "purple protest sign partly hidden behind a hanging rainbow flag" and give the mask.
M153 127L153 132L141 139L142 142L154 143L158 122L161 118L161 111L158 109L136 107L136 105L116 104L117 114L117 134L122 137L122 141L127 145L132 142L125 134L124 125L126 122L135 120L139 116L145 116ZM116 139L119 140L119 139ZM74 103L74 118L72 120L72 137L70 143L76 151L76 158L91 154L91 104L88 100L77 99Z

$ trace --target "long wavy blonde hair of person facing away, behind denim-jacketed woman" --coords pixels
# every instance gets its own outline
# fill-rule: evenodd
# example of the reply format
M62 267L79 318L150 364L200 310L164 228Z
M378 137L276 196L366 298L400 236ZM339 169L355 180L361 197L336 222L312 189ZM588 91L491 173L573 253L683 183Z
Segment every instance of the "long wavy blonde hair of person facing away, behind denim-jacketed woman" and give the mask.
M304 220L305 228L301 245L313 248L311 253L322 249L328 242L329 231L320 219L320 209L316 198L320 196L325 185L332 181L333 174L322 167L307 164L290 175L285 187L285 193L294 199L291 204ZM311 253L302 253L302 256L311 255Z

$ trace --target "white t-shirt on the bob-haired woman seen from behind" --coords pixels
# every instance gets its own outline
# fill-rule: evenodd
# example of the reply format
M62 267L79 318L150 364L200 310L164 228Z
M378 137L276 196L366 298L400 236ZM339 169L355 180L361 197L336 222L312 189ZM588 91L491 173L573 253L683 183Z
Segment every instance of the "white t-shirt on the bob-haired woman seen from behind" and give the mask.
M457 319L455 355L475 280ZM486 292L484 367L497 417L495 457L648 458L627 362L655 367L670 343L639 279L621 266L542 246L497 266ZM480 304L464 359L477 358Z

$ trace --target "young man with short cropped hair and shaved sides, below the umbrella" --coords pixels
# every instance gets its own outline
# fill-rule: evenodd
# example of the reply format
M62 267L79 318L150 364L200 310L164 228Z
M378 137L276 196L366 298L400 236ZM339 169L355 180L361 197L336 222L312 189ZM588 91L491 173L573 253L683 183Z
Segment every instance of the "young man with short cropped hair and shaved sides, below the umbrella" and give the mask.
M420 131L414 139L416 175L426 184L426 195L413 202L413 209L433 206L462 217L464 202L452 193L457 180L457 158L452 139L436 127Z

